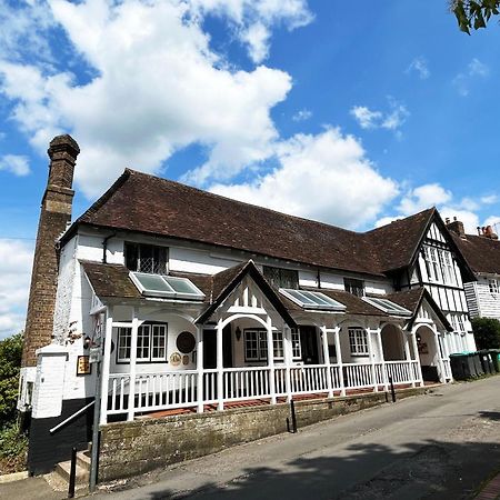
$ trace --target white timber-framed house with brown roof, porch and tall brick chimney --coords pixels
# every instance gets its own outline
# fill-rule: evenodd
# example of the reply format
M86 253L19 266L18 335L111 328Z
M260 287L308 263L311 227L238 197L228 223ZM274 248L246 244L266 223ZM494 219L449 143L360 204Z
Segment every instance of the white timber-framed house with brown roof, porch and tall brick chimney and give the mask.
M50 143L19 398L33 473L87 446L97 388L106 427L447 382L474 349L476 276L433 208L361 233L127 169L70 223L78 153Z

